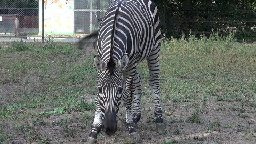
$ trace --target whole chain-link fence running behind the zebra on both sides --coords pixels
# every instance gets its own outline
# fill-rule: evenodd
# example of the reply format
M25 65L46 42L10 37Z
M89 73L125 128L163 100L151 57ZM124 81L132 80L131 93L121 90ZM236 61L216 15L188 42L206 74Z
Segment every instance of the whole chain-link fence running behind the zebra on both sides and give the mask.
M83 37L99 28L103 13L112 2L0 0L0 37ZM182 33L209 36L213 29L221 35L233 30L240 39L255 40L256 10L158 9L162 32L169 37L179 38Z

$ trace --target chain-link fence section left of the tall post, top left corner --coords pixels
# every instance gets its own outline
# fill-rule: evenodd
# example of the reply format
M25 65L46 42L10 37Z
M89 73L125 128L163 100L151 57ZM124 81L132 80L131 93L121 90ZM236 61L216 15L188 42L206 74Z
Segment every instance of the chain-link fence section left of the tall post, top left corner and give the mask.
M38 35L38 1L1 0L0 36Z

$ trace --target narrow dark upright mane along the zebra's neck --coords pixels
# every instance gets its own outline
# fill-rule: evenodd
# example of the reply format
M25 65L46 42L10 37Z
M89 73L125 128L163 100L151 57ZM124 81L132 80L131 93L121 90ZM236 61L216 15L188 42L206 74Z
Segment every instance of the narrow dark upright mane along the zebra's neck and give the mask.
M115 12L113 28L112 28L112 31L111 31L110 54L109 54L109 61L107 63L107 66L108 66L109 71L110 71L110 75L113 74L113 69L115 68L115 62L114 62L114 59L113 59L113 49L114 49L114 33L115 33L115 27L116 27L117 14L118 14L118 8L116 9L116 12Z

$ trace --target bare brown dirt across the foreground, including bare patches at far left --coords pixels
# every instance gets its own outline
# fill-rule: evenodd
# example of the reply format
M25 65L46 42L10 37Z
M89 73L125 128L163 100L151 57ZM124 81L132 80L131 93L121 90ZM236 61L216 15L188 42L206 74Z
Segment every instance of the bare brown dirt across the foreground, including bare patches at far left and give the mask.
M23 86L15 85L9 86L3 84L0 87L0 105L6 103L12 103L16 97L17 91L21 89L34 89L39 83L33 79L33 74L30 75L31 83ZM34 81L34 82L33 82ZM91 96L85 95L88 99L93 100ZM254 97L255 97L254 93ZM143 96L142 96L143 97ZM138 122L137 132L140 137L140 141L132 142L128 138L127 128L125 126L125 111L124 106L121 104L121 109L118 115L118 131L112 136L107 137L103 132L98 135L98 143L256 143L256 118L255 109L244 106L246 116L238 115L238 111L230 110L230 106L241 105L241 102L217 102L215 96L208 101L196 101L199 111L199 116L202 118L203 123L192 123L186 121L186 119L195 112L193 107L185 107L185 105L191 105L191 102L179 102L179 105L174 105L172 101L165 102L162 105L163 118L165 124L165 132L157 133L155 131L154 123L154 106L153 102L146 100L147 105L142 105L142 116ZM160 98L161 99L161 98ZM254 100L251 100L252 102ZM220 105L226 109L216 110ZM35 111L52 110L52 107L40 107L33 109ZM30 111L30 112L29 112ZM20 110L19 113L14 115L22 115L31 113L30 109ZM90 115L86 121L81 121L81 118L85 115ZM86 114L82 112L65 113L60 115L50 115L50 117L41 117L44 119L45 124L31 124L31 121L35 117L23 119L23 120L5 120L2 121L2 128L5 135L12 135L11 138L7 138L7 143L38 143L36 141L30 142L28 140L28 131L36 130L42 135L50 138L50 143L85 143L90 130L91 123L93 122L94 111L87 111ZM40 119L40 118L39 118ZM54 122L60 122L61 119L66 119L68 127L74 128L76 134L74 138L65 137L65 131L63 127ZM68 121L67 119L71 119ZM182 121L182 119L184 121ZM206 127L211 125L210 122L219 120L219 126L213 131L207 131ZM175 121L174 121L175 120ZM15 124L29 125L27 129L14 130ZM226 125L230 126L227 127ZM216 126L216 125L215 125ZM43 139L43 138L42 138ZM42 143L42 141L41 141Z

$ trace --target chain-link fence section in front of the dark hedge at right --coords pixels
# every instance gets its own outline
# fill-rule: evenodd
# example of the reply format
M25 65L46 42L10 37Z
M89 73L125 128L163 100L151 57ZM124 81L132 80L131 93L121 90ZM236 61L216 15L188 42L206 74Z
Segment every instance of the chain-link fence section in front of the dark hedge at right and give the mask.
M256 10L171 10L161 15L162 30L168 37L180 38L182 33L200 38L211 33L239 40L256 41Z

